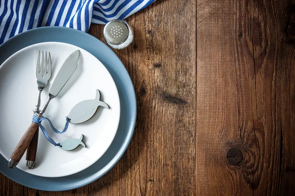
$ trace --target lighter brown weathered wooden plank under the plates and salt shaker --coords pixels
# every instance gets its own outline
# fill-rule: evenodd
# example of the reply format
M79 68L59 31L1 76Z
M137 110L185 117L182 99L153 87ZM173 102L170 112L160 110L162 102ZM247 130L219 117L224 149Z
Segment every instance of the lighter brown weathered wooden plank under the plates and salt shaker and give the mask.
M196 194L196 2L157 0L127 22L135 42L114 51L135 86L138 116L122 158L99 180L65 192L36 191L1 175L1 194ZM102 32L103 25L91 25L89 30L104 41Z

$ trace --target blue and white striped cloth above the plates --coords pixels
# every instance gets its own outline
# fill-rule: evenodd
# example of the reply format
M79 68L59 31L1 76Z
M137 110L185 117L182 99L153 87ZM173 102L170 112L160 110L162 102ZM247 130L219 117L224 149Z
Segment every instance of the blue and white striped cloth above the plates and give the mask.
M124 19L155 0L0 0L0 44L39 26L88 31L91 23Z

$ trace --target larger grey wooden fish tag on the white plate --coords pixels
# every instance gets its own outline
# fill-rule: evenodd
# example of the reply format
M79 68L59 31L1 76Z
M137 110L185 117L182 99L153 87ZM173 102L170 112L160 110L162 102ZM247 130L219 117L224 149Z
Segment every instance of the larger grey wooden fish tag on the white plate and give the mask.
M96 97L91 100L84 100L77 103L70 111L69 123L83 123L88 121L96 112L98 106L109 108L108 104L100 101L100 92L96 89Z

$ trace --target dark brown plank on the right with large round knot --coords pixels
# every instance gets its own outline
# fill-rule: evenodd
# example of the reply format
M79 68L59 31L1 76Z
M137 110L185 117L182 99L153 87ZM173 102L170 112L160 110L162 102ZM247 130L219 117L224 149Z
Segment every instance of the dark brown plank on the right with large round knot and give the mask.
M197 195L295 195L292 4L197 1Z

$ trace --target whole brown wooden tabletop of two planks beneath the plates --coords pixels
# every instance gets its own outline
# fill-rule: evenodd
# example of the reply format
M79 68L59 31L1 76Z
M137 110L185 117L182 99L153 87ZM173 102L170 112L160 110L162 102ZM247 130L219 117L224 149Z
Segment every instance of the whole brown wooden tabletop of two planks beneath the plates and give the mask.
M127 22L138 116L117 165L56 193L1 175L0 195L294 196L295 1L157 0Z

